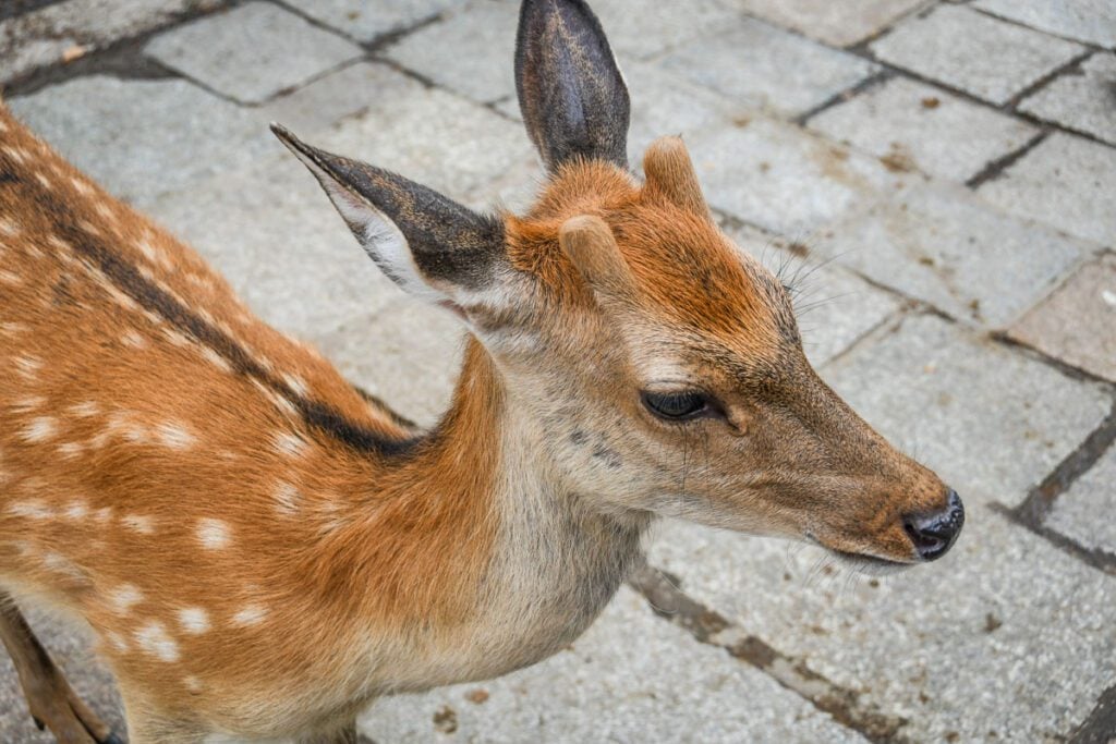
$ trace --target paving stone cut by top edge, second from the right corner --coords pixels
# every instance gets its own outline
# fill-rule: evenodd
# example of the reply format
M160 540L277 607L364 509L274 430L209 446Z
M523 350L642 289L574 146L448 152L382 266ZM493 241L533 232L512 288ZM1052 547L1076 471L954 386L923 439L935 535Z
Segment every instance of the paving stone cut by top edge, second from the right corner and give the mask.
M829 0L738 0L750 13L792 28L808 37L847 47L926 4L926 0L862 0L853 4Z

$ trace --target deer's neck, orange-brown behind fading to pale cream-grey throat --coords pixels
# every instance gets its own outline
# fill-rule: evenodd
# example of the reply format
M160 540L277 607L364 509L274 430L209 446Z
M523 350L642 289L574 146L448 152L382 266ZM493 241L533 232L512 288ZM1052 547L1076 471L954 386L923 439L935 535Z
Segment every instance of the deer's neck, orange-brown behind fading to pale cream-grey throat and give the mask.
M406 637L416 667L403 687L491 677L549 656L642 559L648 518L602 512L566 487L545 437L470 340L442 424L392 474L388 497L360 506L365 533L357 526L350 541L362 550L323 559L358 573L344 581L371 584L360 619L394 622Z

